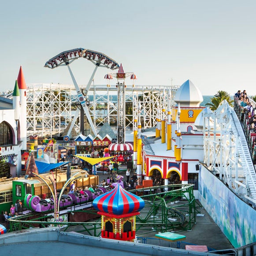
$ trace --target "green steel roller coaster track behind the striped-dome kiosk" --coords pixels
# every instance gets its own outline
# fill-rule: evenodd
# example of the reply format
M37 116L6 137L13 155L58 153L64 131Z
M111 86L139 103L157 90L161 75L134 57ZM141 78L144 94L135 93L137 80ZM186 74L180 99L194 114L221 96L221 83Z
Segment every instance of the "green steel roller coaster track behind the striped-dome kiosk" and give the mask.
M201 207L193 195L193 186L193 184L175 184L130 190L129 192L136 193L145 200L145 208L140 211L140 215L136 216L136 234L191 230ZM48 215L30 213L9 219L9 231L22 232L38 226L57 226L63 231L75 230L78 233L85 232L91 236L100 236L100 216L93 210L82 210L82 212L94 214L95 219L98 219L93 222L48 222L44 220L53 218L49 212L47 212Z

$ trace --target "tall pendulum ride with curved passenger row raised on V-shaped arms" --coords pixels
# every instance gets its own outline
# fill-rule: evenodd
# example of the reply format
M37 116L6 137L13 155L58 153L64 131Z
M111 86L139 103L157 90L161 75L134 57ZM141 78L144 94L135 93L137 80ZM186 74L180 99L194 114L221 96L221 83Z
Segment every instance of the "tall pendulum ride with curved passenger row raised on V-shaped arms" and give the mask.
M81 92L81 90L78 86L78 83L76 82L76 79L74 78L74 74L70 68L70 63L72 63L75 59L78 59L78 58L88 59L95 65L95 68L94 68L93 73L89 79L89 82L88 82L86 88L82 90L82 92ZM53 57L52 59L49 59L45 63L45 67L48 67L51 69L59 67L59 66L67 66L67 68L70 72L72 81L74 83L76 92L77 92L78 102L81 104L81 120L84 120L84 113L85 113L85 115L88 119L89 125L91 126L91 129L93 131L93 134L95 136L97 136L96 129L93 125L93 121L89 114L89 110L88 110L88 107L86 104L87 99L88 99L87 94L89 92L89 89L93 82L94 75L95 75L98 67L107 67L107 68L110 68L111 70L115 70L115 69L119 68L119 64L115 60L109 58L108 56L104 55L101 52L95 52L95 51L83 49L83 48L76 48L76 49L68 50L65 52L61 52L58 55L56 55L55 57ZM72 128L74 127L74 124L75 124L76 119L78 118L78 115L79 115L79 109L76 111L76 113L74 115L74 119L71 123L70 129L68 131L68 135L70 134ZM84 135L84 122L82 122L82 121L80 122L80 131Z

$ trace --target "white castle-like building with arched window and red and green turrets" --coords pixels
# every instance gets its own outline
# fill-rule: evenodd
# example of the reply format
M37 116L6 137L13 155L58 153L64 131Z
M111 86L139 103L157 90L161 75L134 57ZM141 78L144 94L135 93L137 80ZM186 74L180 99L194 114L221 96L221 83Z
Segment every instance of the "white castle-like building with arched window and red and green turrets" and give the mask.
M0 96L0 178L21 175L21 153L25 149L26 83L20 67L13 99Z

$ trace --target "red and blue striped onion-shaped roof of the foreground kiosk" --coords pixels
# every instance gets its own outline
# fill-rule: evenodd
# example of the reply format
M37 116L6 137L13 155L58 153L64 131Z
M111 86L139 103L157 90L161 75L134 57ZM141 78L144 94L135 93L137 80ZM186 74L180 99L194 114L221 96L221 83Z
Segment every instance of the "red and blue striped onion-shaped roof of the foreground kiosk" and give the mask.
M141 197L126 191L119 184L115 189L93 200L96 210L115 215L137 212L144 206L145 202Z

